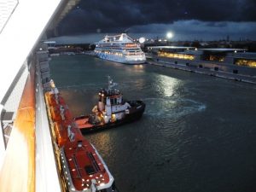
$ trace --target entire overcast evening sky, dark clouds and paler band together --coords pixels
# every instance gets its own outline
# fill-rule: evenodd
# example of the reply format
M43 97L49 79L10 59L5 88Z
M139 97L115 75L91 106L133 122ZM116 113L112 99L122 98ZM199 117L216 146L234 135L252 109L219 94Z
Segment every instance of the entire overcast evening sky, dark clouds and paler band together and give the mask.
M256 0L81 0L59 25L61 35L168 31L175 40L256 40Z

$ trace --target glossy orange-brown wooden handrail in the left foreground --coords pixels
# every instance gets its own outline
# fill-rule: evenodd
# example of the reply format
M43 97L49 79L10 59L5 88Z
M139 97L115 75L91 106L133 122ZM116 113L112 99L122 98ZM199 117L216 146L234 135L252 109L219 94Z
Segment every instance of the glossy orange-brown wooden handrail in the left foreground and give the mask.
M34 69L26 79L0 172L0 192L35 191Z

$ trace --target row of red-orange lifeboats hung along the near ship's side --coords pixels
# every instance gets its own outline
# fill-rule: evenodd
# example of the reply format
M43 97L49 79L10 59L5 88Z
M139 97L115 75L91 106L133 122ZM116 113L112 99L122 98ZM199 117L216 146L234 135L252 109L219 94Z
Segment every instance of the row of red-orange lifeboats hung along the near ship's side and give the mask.
M61 176L67 191L117 192L108 166L81 134L53 81L45 93L50 125L60 150Z

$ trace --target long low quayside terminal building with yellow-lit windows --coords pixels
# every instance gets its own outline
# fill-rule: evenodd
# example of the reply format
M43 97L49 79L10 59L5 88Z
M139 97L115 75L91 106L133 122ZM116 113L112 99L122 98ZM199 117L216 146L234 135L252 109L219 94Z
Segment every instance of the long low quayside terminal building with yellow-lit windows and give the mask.
M246 49L152 46L147 50L151 61L166 67L256 83L256 53Z

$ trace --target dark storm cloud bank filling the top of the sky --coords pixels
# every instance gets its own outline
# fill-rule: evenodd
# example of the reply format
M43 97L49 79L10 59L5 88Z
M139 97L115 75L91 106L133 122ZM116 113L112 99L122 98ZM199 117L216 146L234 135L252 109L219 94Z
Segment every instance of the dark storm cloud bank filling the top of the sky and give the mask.
M225 26L223 21L256 21L255 10L255 0L81 0L61 21L59 29L61 34L97 29L124 32L131 26L172 24L177 20L201 20L208 21L209 26Z

